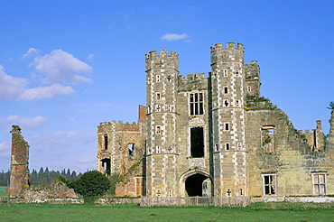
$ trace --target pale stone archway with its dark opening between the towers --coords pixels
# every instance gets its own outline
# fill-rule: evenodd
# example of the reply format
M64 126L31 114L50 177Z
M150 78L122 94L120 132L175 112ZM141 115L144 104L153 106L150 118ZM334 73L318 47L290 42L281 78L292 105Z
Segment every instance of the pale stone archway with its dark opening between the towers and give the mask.
M203 194L208 195L210 193L210 185L208 186L208 183L211 183L211 181L211 177L207 171L199 169L187 171L180 178L180 196L201 197Z

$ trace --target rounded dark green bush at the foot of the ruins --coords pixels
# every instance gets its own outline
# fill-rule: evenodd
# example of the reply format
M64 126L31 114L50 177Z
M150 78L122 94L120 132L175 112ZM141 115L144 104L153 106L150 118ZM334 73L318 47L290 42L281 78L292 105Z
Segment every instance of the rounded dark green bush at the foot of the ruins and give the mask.
M76 193L83 196L85 203L94 203L110 188L110 181L99 171L88 171L69 184Z

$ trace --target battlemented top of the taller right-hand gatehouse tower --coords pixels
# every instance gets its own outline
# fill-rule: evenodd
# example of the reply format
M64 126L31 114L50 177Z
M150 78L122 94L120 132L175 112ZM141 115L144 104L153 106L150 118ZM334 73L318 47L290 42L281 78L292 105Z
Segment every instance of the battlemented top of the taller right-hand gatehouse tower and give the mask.
M211 65L218 61L237 61L244 63L244 46L242 43L227 42L227 47L216 43L211 49Z

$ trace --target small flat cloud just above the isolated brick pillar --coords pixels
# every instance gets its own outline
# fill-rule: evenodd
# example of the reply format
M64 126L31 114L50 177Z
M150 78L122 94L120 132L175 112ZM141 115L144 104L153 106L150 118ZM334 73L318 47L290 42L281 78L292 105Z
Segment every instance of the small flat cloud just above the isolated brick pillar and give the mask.
M46 117L35 116L35 117L20 117L17 115L10 115L3 120L6 123L11 123L12 125L20 125L23 127L36 128L46 123Z

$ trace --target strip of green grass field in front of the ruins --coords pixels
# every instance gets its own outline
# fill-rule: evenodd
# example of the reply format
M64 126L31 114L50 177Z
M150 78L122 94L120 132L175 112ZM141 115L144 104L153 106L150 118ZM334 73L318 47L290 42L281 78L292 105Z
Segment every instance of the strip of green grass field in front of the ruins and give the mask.
M255 203L246 208L0 204L0 221L333 221L334 204Z

